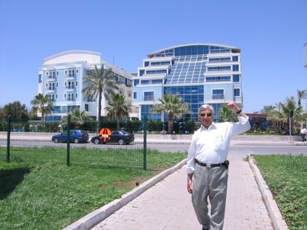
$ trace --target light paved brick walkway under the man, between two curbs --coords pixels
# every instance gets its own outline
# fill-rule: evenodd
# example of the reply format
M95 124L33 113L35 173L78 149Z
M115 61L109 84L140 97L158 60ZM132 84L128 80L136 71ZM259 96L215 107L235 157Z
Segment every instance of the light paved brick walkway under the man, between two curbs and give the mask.
M241 158L229 160L224 230L273 229L248 162ZM186 166L150 187L92 229L202 229L186 190Z

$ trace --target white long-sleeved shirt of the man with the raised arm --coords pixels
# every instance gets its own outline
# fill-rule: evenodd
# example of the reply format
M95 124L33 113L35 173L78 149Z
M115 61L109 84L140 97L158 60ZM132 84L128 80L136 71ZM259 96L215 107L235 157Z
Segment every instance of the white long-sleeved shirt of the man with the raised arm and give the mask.
M194 133L188 150L188 174L192 174L195 169L194 159L206 164L219 164L227 160L230 139L250 129L248 116L238 118L238 123L212 123L208 130L202 125Z

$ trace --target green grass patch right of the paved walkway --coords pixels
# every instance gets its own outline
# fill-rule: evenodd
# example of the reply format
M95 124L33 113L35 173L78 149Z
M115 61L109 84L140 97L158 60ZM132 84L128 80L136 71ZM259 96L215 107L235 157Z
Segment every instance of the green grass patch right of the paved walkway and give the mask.
M255 155L289 229L307 229L307 156Z

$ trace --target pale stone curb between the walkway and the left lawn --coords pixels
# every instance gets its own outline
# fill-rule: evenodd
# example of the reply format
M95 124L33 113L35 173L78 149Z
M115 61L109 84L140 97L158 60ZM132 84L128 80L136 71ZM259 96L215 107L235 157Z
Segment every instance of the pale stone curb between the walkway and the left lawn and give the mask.
M111 203L94 210L92 213L89 213L88 215L82 217L80 220L77 220L73 224L70 224L68 227L66 227L63 230L88 230L88 229L95 227L97 224L105 220L105 218L109 217L114 212L119 210L119 208L122 208L123 206L128 204L130 201L138 197L140 194L148 190L150 187L152 187L153 185L156 185L156 183L158 183L159 181L162 181L166 176L172 174L174 171L183 167L184 164L186 164L186 159L182 160L181 162L176 164L174 167L170 169L166 169L165 171L154 176L148 181L145 181L139 187L135 187L130 192L123 194L121 196L121 199L116 199L112 201Z

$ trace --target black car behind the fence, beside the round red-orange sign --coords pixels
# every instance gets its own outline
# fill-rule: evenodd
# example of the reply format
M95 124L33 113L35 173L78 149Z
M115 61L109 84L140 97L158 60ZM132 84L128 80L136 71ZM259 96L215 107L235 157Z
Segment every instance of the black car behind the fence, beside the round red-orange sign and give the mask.
M103 135L98 135L91 138L91 142L95 144L105 144L105 143L118 143L118 144L130 144L134 141L134 135L126 131L114 130L112 135L103 137Z

